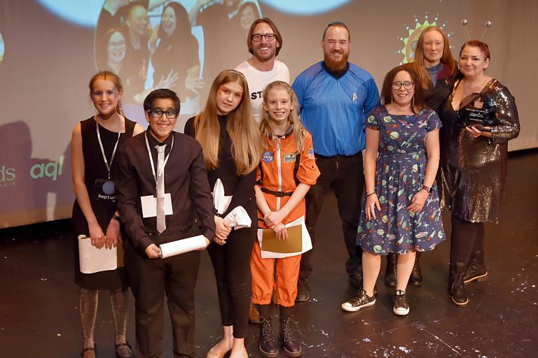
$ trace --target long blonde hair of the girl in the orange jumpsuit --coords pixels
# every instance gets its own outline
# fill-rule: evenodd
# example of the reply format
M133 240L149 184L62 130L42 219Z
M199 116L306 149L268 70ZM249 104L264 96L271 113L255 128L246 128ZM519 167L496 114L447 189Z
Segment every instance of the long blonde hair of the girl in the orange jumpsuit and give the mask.
M267 87L265 87L265 89L263 90L262 96L263 103L265 103L265 106L267 106L267 94L270 90L273 89L285 90L286 92L288 92L289 98L291 99L291 104L294 106L294 109L289 112L288 122L290 124L291 131L293 131L296 138L296 152L300 153L303 151L304 148L303 138L305 136L305 132L303 124L301 123L301 119L299 118L299 102L297 101L297 96L295 95L294 90L291 89L291 86L288 83L285 83L283 81L275 81L267 85ZM277 136L273 132L273 129L271 129L270 123L271 118L269 116L269 113L267 110L264 110L260 123L261 135L266 138L269 138L271 141L276 141ZM264 143L264 148L268 149L268 145L266 143Z

